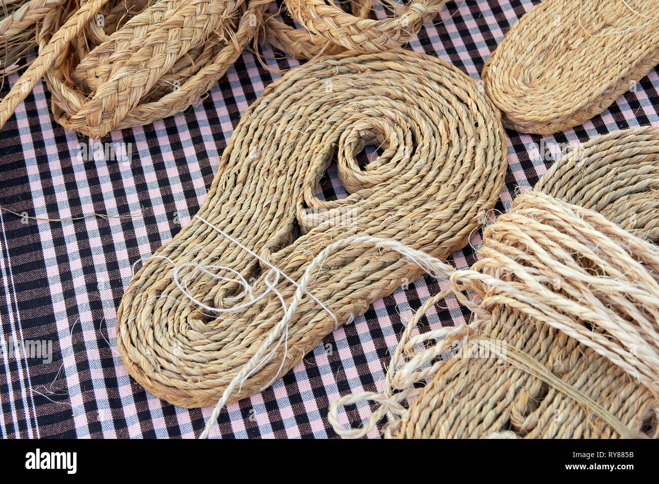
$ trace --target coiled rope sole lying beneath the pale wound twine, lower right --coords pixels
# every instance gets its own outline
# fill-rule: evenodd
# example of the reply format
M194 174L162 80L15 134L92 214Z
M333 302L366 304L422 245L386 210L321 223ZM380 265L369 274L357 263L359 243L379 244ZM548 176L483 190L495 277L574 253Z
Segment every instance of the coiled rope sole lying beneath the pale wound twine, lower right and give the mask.
M536 184L657 240L659 128L613 132L557 161ZM514 211L514 209L513 209ZM637 214L634 216L633 214ZM635 435L657 437L659 400L623 369L541 321L499 304L483 335L504 341L595 400ZM616 438L604 421L541 379L497 358L453 358L422 390L395 437Z

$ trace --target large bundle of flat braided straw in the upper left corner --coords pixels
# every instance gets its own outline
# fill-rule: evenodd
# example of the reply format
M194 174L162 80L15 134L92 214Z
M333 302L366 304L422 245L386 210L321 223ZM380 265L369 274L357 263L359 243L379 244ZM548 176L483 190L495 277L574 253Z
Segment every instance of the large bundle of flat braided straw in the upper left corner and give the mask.
M45 75L65 128L100 138L199 99L262 26L267 3L90 0L61 26L50 9L38 59L0 103L0 126Z

